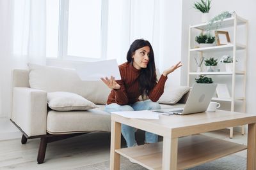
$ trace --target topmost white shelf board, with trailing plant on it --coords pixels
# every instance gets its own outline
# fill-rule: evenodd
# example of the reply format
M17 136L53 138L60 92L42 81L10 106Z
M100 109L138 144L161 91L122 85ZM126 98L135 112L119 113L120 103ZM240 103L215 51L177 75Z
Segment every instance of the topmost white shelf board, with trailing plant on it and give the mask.
M216 25L219 24L220 22L221 24L220 24L220 27L218 27L218 29L233 27L234 20L235 20L235 17L230 17L230 18L224 19L222 22L221 21L214 22L211 26L209 26L209 30L216 29ZM209 22L204 24L191 25L190 28L195 28L195 29L204 31L208 29L208 24ZM246 20L237 16L237 25L243 25L243 24L246 24Z

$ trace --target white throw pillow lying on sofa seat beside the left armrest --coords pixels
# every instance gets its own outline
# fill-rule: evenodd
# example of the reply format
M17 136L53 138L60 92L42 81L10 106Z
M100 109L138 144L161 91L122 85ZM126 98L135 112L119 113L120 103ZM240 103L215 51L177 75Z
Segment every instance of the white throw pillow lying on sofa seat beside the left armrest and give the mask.
M98 108L94 103L78 94L70 92L48 92L47 103L49 108L57 111L90 110Z

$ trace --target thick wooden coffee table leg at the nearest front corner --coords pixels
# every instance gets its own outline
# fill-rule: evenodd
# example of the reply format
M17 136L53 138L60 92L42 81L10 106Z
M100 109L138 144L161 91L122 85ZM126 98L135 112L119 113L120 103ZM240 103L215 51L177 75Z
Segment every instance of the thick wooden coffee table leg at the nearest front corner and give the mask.
M178 138L163 138L162 169L177 169Z

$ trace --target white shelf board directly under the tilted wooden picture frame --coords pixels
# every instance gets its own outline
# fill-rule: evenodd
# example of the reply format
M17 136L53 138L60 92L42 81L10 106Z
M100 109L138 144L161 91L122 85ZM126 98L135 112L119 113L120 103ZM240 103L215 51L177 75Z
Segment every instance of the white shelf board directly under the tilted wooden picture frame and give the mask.
M190 48L189 51L190 52L205 52L205 51L212 52L212 51L221 51L221 50L230 51L230 50L233 50L233 48L234 48L234 45L228 44L228 45L219 45L219 46L209 46L204 48ZM241 45L241 44L236 45L236 50L243 50L245 48L246 48L245 45Z

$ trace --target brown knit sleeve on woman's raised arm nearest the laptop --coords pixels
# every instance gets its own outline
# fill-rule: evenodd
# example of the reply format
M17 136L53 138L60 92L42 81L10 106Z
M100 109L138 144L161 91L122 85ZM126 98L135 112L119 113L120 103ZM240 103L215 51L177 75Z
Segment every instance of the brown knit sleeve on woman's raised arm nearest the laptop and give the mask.
M148 97L151 101L156 102L162 96L162 94L164 93L164 85L166 80L167 80L167 76L164 76L162 74L158 83L155 85L154 89L152 89L149 92Z

